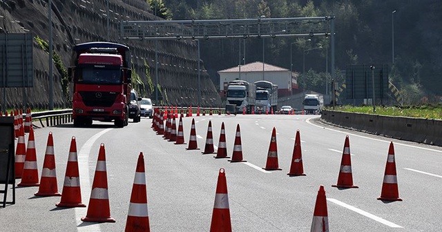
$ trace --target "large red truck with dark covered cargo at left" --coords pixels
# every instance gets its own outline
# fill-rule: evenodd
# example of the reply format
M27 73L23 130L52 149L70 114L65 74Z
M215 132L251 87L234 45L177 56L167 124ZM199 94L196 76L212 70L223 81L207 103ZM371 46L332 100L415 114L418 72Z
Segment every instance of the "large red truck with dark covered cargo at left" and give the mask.
M128 46L80 43L73 47L72 60L68 77L73 82L74 126L90 126L93 120L127 126L132 72Z

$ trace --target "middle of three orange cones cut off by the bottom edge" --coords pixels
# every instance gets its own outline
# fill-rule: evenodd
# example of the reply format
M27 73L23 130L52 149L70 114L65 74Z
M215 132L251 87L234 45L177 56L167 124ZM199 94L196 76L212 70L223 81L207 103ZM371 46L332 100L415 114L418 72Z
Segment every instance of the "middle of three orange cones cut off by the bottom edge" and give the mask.
M227 194L227 180L224 168L220 168L220 173L218 174L210 231L232 231L232 225L230 222L229 195Z

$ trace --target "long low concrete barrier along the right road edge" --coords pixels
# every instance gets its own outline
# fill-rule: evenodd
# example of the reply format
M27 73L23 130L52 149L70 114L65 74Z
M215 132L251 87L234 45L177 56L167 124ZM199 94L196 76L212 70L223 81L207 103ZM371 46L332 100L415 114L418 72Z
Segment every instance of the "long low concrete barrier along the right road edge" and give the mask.
M321 122L374 135L442 146L442 120L323 110Z

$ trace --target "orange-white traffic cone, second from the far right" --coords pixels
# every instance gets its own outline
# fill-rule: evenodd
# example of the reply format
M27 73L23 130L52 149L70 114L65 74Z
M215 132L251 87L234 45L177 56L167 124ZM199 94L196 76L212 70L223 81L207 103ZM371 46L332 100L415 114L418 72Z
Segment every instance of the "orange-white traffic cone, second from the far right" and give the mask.
M350 143L348 135L345 137L343 158L340 161L340 170L338 176L338 184L332 185L337 188L358 188L358 186L353 185L352 176L352 159L350 158Z

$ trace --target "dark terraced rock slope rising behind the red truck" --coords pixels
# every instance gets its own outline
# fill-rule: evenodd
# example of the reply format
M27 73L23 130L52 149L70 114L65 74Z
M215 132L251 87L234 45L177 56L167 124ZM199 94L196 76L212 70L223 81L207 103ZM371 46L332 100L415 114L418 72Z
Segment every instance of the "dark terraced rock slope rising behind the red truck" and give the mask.
M109 30L107 30L106 4L109 1ZM72 64L72 47L77 43L89 41L109 41L123 43L131 48L133 88L142 97L155 99L155 41L119 39L120 21L122 20L158 20L151 14L148 3L142 0L97 0L97 1L52 1L52 45L54 55L61 58L64 68ZM27 33L34 38L41 38L48 43L48 1L44 0L5 0L0 1L0 32ZM108 34L109 31L109 34ZM30 108L48 108L49 77L48 52L41 43L34 39L34 87L6 88L6 102L3 102L3 90L0 104L6 108L21 108L23 102ZM198 106L198 50L191 40L157 41L158 57L158 93L157 105ZM54 64L54 62L52 62ZM200 64L200 93L202 107L221 106L222 101L213 82L209 78L204 64ZM64 87L66 70L56 68L53 73L53 102L55 108L70 108L72 84ZM66 89L66 90L64 90ZM162 98L162 101L160 99ZM23 100L25 99L25 100Z

